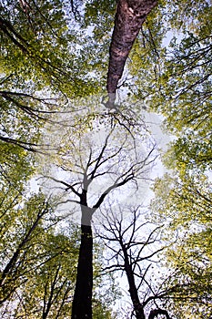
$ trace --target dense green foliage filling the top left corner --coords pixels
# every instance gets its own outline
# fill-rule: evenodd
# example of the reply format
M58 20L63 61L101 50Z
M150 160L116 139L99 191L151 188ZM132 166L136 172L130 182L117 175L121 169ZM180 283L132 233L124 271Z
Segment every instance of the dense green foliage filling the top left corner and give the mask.
M68 17L69 10L59 0L2 5L1 73L72 98L94 93L90 56L82 54L89 36L73 15Z

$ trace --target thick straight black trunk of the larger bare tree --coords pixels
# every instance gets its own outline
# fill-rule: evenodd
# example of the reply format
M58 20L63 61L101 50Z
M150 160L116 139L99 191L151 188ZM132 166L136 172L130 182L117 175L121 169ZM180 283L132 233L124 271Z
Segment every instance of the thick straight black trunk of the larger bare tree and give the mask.
M76 288L72 304L72 319L92 318L93 288L93 234L91 228L91 212L82 206L81 244L79 249Z

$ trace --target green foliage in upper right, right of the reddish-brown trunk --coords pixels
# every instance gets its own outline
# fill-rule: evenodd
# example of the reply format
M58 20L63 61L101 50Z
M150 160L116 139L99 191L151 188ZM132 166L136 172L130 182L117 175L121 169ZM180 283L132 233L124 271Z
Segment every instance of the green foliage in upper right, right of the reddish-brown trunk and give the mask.
M185 171L211 168L211 12L205 0L159 2L128 62L133 77L125 86L137 111L145 106L163 115L177 138L167 161Z

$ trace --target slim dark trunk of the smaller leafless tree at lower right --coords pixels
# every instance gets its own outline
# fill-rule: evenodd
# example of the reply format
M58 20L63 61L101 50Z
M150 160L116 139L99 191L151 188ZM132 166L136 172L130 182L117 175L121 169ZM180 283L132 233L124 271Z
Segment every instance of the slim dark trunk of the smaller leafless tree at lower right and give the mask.
M122 244L122 250L125 256L125 271L126 271L127 281L129 284L130 298L133 303L136 319L145 319L144 307L139 301L132 265L129 262L126 246L124 244Z

